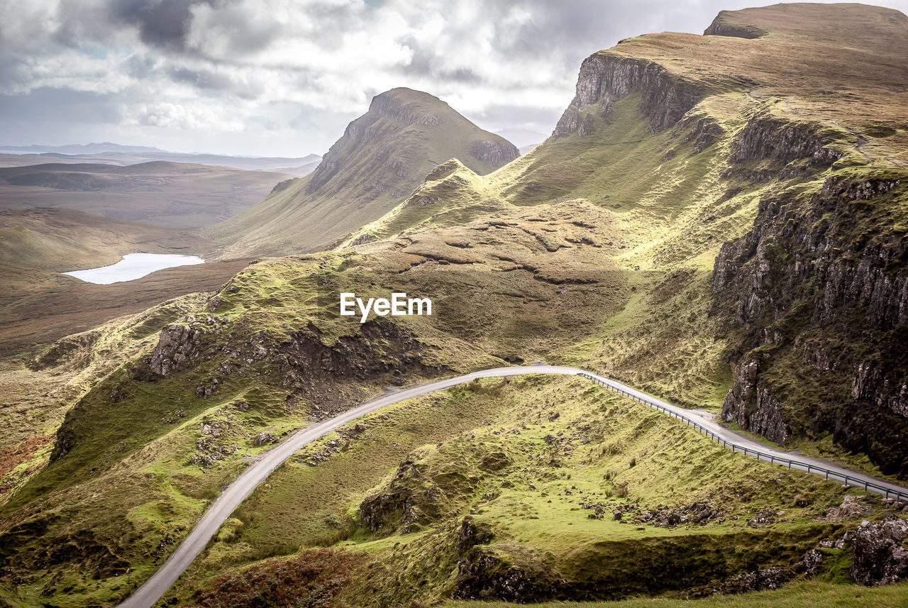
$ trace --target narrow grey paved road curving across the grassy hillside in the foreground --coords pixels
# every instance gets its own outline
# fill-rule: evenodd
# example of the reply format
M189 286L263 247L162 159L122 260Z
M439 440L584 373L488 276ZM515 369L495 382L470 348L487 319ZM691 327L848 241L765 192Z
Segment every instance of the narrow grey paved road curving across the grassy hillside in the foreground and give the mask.
M257 485L261 484L267 476L271 475L271 472L275 468L293 456L293 454L302 446L315 441L321 436L331 433L331 431L342 427L359 417L374 412L381 407L387 407L399 403L400 401L405 401L406 399L464 384L477 378L504 378L508 376L520 376L523 374L558 374L562 376L577 376L583 374L588 378L593 378L605 384L607 387L620 390L631 397L637 397L658 404L664 409L674 412L676 415L696 418L697 423L700 426L709 429L716 436L722 437L730 443L735 443L737 446L746 446L748 449L759 451L768 456L782 458L791 457L789 453L764 446L763 444L759 444L745 436L740 436L734 431L720 426L716 423L715 419L710 417L706 412L673 406L644 392L627 387L620 382L597 376L597 374L582 369L549 365L483 369L470 374L465 374L464 376L436 380L434 382L429 382L428 384L405 388L395 393L376 397L371 401L368 401L359 407L354 407L336 417L324 420L323 422L311 425L310 427L301 428L289 439L286 439L281 443L281 445L275 446L261 456L258 456L255 462L252 463L252 466L249 466L249 468L243 471L231 485L224 488L217 500L215 500L205 514L202 515L202 519L199 520L199 523L192 528L192 532L186 536L183 543L173 551L173 554L171 554L171 556L167 558L167 561L158 568L157 572L152 574L152 576L145 581L135 593L123 600L122 603L117 604L117 608L152 608L154 603L161 599L163 594L167 592L171 585L173 585L186 568L189 567L189 564L192 564L192 560L202 552L202 549L208 544L208 541L217 533L218 529L224 521L230 517L236 507L238 507L247 496L252 494L252 490L254 490ZM895 485L891 482L877 479L872 476L866 476L841 466L835 466L824 460L806 458L804 456L796 456L796 458L798 461L811 464L812 466L824 467L830 471L839 472L840 475L848 475L852 479L859 480L862 483L868 481L889 488L893 492L908 493L908 488L901 485Z

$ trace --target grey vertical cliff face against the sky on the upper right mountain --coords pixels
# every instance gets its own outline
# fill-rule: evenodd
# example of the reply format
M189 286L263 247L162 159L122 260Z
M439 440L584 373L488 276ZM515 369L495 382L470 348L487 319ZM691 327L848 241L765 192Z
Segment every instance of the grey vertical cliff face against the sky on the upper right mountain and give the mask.
M655 62L600 51L580 65L577 94L561 115L554 137L593 132L591 112L607 116L611 103L639 89L640 109L649 131L659 132L681 120L700 100L702 86L686 81ZM596 109L591 106L597 106Z

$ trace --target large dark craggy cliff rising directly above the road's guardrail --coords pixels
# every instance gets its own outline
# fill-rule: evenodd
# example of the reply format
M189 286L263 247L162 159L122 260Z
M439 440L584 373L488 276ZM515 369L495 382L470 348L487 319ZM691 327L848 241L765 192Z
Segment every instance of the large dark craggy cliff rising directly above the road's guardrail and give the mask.
M765 197L722 247L713 313L739 330L722 415L780 444L822 436L908 475L908 240L895 177Z

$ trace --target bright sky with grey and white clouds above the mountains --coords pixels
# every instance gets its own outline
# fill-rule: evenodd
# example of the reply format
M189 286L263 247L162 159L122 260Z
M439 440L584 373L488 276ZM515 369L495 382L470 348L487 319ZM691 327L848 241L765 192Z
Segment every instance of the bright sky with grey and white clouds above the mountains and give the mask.
M523 145L551 132L587 55L764 4L0 0L0 144L303 156L409 86Z

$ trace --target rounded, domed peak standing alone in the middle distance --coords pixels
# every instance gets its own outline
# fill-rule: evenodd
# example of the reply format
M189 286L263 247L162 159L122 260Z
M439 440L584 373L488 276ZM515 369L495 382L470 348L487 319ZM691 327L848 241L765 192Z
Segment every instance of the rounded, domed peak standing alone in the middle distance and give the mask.
M279 184L251 210L205 231L226 257L324 249L406 199L432 167L457 158L485 174L518 157L439 98L398 88L376 95L311 175Z

